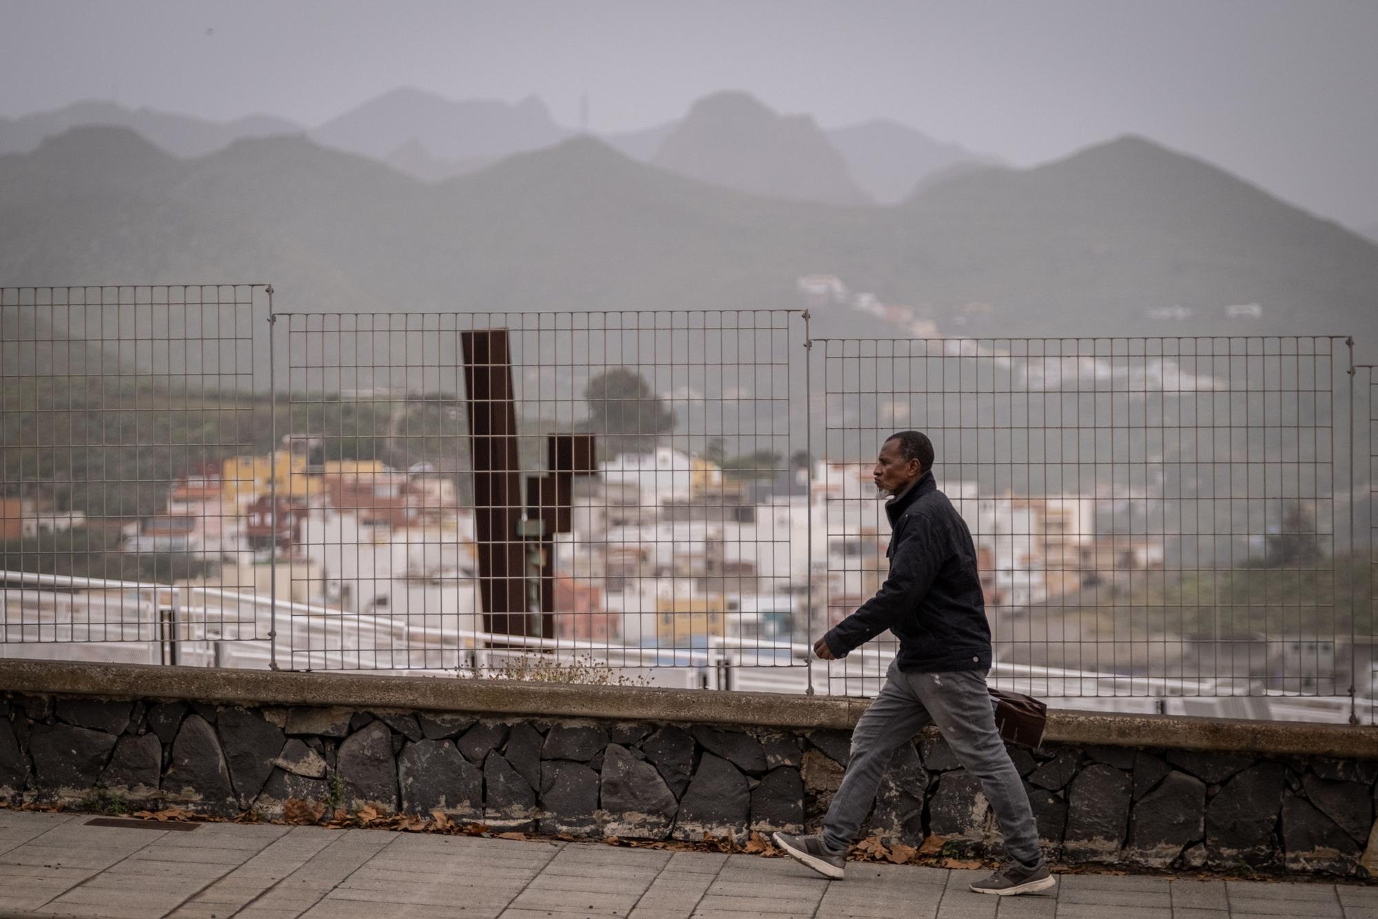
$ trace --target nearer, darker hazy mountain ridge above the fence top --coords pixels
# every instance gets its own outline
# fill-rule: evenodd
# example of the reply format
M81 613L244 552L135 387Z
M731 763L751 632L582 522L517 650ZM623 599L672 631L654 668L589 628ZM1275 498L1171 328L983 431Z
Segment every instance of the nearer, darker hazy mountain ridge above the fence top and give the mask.
M954 335L1378 340L1378 247L1133 136L876 208L706 185L591 138L424 183L303 136L182 160L77 128L0 157L0 238L10 285L273 281L282 310L798 307L796 278L823 273ZM817 335L908 335L814 316Z

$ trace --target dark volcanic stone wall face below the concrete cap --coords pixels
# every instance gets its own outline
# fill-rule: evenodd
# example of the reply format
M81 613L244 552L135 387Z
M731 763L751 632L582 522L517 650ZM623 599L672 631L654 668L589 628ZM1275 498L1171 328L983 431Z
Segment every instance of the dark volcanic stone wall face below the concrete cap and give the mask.
M289 799L542 834L744 839L819 825L849 732L7 693L10 803L281 814ZM1050 744L1011 748L1064 863L1350 875L1378 762ZM980 785L936 733L898 750L864 835L998 851Z

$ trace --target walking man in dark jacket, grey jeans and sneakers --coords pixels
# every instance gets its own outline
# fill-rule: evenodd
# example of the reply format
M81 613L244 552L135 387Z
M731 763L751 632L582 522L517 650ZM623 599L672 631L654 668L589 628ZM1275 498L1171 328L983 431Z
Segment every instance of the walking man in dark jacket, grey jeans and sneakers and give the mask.
M890 754L937 723L962 766L981 783L1005 834L1006 864L971 885L999 896L1047 890L1038 827L1020 773L995 727L985 674L991 627L966 522L933 479L933 442L919 431L892 434L872 470L892 495L890 573L875 597L820 638L814 653L836 660L885 630L900 653L885 688L852 732L852 756L823 820L823 834L776 834L790 856L828 878L842 878L847 849L875 802Z

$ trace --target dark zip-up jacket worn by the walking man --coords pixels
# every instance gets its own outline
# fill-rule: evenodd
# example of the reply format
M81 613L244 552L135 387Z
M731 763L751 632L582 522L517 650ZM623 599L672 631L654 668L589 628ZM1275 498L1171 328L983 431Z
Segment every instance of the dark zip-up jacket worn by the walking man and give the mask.
M900 639L904 671L991 668L991 627L966 521L933 473L885 506L890 575L875 597L823 639L842 657L886 628Z

